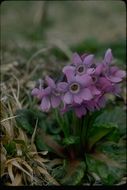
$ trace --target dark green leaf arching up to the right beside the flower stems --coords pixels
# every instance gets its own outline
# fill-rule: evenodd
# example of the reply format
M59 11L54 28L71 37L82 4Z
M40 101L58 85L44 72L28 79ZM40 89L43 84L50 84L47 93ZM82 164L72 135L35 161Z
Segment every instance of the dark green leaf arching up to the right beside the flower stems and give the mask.
M87 135L87 146L88 150L91 150L93 145L100 141L102 138L106 137L106 135L110 134L108 136L109 139L114 139L114 134L118 130L117 125L113 123L105 123L105 124L98 124L91 126L90 129L88 129L88 135ZM112 137L112 134L114 135Z

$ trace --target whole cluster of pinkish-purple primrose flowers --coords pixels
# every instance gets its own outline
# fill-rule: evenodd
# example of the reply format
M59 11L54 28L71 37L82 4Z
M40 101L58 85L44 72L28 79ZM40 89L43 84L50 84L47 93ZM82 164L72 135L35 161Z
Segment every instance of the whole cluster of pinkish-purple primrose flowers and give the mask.
M74 53L71 64L62 70L63 80L56 83L46 76L32 95L41 101L40 108L45 112L60 105L62 113L72 109L78 117L98 110L105 106L107 93L119 95L119 83L126 75L112 65L112 60L111 49L99 63L95 63L93 54Z

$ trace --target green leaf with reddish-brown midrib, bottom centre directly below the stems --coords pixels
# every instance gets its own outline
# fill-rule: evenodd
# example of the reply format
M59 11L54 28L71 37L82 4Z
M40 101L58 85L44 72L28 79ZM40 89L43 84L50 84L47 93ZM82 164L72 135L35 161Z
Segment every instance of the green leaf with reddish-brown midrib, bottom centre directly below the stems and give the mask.
M83 161L68 162L66 174L60 181L62 185L80 185L85 174L86 165Z

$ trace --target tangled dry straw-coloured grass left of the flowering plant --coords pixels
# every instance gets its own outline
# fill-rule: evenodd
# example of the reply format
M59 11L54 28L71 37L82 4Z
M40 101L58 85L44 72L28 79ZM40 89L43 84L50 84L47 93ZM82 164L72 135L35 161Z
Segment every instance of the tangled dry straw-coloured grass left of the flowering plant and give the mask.
M50 49L50 48L49 48ZM1 65L1 179L4 185L59 185L47 170L48 152L38 152L34 144L37 129L31 137L17 126L15 115L17 109L30 107L30 91L35 82L32 79L40 69L45 75L51 70L46 64L36 64L36 57L49 50L40 49L35 52L26 64L13 61ZM42 62L45 60L41 58ZM47 67L47 68L46 68ZM15 146L14 153L9 154L5 147ZM51 164L51 161L50 161ZM56 163L55 163L56 164Z

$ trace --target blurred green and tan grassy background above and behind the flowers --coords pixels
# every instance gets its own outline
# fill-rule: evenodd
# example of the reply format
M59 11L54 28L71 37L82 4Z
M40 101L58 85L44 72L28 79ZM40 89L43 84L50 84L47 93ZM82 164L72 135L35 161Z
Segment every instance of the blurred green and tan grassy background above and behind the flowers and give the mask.
M17 78L30 75L24 77L25 85L47 71L59 74L75 51L102 57L112 48L117 63L125 68L125 4L117 0L4 1L1 47L2 81L10 80L10 73Z

